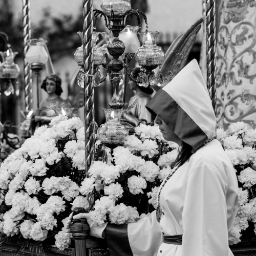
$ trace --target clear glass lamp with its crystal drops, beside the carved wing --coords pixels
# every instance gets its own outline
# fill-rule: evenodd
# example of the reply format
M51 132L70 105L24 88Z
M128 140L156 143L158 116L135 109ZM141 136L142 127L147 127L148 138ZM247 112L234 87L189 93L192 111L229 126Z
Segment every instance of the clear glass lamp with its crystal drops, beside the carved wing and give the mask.
M138 51L135 53L135 60L138 64L150 74L150 79L148 83L152 86L156 84L161 86L163 82L163 75L161 72L155 76L154 69L161 65L164 60L164 52L161 47L157 46L157 37L161 32L151 32L145 31L138 33L143 38L142 46L139 47ZM142 79L146 80L143 72L139 74ZM147 84L147 83L146 83Z

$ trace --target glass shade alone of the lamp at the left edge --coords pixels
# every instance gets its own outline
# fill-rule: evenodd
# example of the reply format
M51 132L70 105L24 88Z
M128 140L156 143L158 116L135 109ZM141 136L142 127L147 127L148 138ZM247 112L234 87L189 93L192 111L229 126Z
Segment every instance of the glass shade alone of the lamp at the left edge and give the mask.
M19 67L14 63L17 52L13 52L9 47L6 52L0 52L3 62L0 63L0 78L16 79L20 73Z

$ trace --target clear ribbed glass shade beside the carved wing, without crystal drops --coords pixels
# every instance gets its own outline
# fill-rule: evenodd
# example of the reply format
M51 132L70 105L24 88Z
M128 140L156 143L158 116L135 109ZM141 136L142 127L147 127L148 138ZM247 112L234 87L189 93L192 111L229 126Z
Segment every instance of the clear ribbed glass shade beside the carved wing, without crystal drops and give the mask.
M157 46L156 41L160 32L138 33L143 38L143 45L135 53L135 60L140 66L159 66L164 60L164 52Z

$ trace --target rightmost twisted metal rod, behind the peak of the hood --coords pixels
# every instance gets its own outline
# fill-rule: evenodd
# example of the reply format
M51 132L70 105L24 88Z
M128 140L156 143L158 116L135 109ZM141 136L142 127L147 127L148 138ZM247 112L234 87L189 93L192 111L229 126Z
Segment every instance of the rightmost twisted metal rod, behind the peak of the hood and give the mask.
M215 27L215 0L206 2L206 65L207 88L210 94L212 107L216 114L216 27Z

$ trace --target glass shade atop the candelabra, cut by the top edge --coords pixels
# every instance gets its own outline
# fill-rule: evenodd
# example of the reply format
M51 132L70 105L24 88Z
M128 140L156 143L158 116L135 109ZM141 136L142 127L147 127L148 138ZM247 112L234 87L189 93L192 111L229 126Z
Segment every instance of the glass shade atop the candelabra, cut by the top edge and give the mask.
M105 15L110 16L113 10L115 15L121 16L131 9L131 3L129 0L103 0L100 7Z

